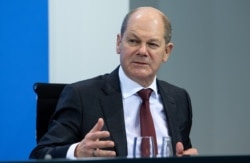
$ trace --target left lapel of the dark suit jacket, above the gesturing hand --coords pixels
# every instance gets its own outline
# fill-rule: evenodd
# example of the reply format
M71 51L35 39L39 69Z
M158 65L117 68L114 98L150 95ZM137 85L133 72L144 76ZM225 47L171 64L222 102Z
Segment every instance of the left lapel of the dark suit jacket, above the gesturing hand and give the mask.
M107 129L115 142L117 156L126 156L127 139L119 83L118 69L116 69L107 77L103 87L104 95L101 97L101 104Z

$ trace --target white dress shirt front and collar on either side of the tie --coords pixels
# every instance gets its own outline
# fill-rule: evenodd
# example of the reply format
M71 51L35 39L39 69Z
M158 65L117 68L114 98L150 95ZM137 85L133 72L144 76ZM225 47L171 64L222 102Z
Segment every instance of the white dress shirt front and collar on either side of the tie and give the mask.
M127 134L127 149L128 156L133 157L133 143L134 137L140 136L140 105L142 103L141 98L137 95L137 92L143 87L138 83L134 82L126 76L122 67L119 68L119 78L122 91L122 101L124 109L124 119ZM149 103L150 111L155 125L157 145L158 145L158 156L161 153L162 137L169 136L167 128L167 119L163 111L163 105L161 102L160 95L157 91L156 77L153 83L147 87L153 90Z

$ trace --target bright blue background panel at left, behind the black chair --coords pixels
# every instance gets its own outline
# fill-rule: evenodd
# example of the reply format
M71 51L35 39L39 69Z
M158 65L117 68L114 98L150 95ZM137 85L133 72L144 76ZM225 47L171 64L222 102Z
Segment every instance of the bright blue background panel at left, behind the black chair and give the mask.
M47 0L0 0L0 161L35 145L35 81L48 81Z

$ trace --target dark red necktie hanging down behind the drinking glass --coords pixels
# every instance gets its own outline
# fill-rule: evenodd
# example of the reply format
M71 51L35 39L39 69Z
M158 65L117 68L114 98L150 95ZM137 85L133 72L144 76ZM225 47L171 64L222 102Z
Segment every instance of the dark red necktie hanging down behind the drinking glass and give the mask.
M142 89L137 92L142 99L142 104L140 108L140 125L141 125L141 136L152 136L154 138L154 151L155 155L158 153L155 127L151 112L149 109L149 97L152 93L152 89ZM149 156L149 142L142 143L142 155L144 157Z

